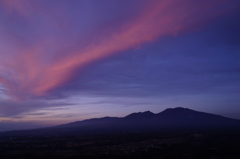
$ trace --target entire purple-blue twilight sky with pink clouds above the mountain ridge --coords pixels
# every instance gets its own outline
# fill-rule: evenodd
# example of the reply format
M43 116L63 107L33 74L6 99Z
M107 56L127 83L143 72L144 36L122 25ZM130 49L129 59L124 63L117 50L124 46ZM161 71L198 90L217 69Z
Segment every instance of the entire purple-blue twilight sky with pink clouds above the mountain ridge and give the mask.
M0 0L0 131L185 107L240 119L239 0Z

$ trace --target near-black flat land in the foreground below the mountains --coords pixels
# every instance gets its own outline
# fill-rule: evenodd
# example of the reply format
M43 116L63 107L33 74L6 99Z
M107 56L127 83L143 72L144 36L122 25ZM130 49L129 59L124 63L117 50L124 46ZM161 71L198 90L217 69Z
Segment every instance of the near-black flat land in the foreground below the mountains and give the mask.
M240 131L2 138L0 158L240 159Z

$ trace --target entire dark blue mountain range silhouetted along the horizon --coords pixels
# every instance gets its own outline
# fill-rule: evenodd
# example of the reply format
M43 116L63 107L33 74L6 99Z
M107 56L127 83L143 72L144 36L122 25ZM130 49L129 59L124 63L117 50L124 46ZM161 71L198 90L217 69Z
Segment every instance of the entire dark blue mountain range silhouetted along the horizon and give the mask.
M104 117L49 128L2 132L1 135L98 135L164 131L209 131L240 129L240 120L198 112L187 108L168 108L154 114L150 111L132 113L122 118Z

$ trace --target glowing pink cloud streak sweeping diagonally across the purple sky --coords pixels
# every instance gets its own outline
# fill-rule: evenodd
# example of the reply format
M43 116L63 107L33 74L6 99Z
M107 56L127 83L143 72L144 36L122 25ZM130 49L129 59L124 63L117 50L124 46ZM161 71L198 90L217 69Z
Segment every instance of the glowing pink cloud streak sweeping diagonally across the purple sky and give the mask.
M26 2L26 1L21 1ZM24 4L19 1L1 1L9 10L21 15L29 15ZM50 63L45 45L39 43L33 48L18 50L0 74L0 82L11 96L27 99L44 96L51 90L63 86L75 76L76 70L112 54L136 48L152 42L161 36L177 36L189 30L199 29L205 22L227 14L233 7L224 7L227 0L195 1L162 0L149 1L148 5L135 19L131 19L114 31L97 37L85 47L67 50L64 57ZM34 8L32 5L30 8ZM61 44L52 45L61 49ZM10 72L10 73L9 73Z

